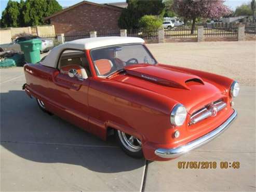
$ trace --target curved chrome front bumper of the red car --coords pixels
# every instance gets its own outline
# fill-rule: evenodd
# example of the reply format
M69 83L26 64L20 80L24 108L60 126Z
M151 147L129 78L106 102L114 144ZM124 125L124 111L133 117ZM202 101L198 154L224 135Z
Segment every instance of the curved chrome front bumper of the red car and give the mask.
M177 148L158 148L155 150L155 154L162 158L179 157L182 154L187 153L190 150L195 149L197 147L200 147L201 145L204 145L209 141L213 140L214 138L216 138L217 136L219 136L228 128L228 126L236 118L236 116L237 116L237 113L234 110L234 113L221 126L217 127L216 129L207 133L206 135L201 136L200 138Z

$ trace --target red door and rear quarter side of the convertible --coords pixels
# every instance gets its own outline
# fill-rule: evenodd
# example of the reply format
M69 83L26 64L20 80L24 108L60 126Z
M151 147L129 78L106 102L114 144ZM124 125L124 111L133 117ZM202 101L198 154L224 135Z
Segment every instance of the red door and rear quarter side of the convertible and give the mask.
M44 101L47 111L90 132L87 115L89 79L83 81L83 86L78 92L57 86L53 82L59 74L56 68L41 64L26 64L24 71L27 89L33 97Z

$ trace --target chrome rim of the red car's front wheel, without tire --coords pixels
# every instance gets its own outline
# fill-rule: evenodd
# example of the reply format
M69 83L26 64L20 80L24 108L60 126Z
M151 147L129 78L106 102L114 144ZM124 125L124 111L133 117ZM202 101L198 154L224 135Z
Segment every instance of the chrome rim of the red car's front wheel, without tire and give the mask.
M141 150L141 141L138 138L119 130L117 130L117 133L120 141L127 150L130 152L139 152ZM137 144L134 144L134 141Z

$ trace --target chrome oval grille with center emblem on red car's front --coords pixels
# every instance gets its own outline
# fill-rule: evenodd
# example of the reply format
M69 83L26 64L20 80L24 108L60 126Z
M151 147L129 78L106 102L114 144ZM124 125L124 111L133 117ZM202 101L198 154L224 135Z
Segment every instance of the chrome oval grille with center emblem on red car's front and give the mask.
M192 114L190 118L190 125L196 124L197 122L204 120L208 117L215 116L221 109L226 107L226 103L223 100L218 100L199 109L197 112Z

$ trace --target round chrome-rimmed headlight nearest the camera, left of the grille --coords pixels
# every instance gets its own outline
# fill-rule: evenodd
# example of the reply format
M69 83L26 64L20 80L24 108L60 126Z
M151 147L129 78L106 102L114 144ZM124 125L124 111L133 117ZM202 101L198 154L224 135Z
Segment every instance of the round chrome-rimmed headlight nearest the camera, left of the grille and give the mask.
M186 108L182 104L177 104L171 111L171 124L181 126L186 120Z

